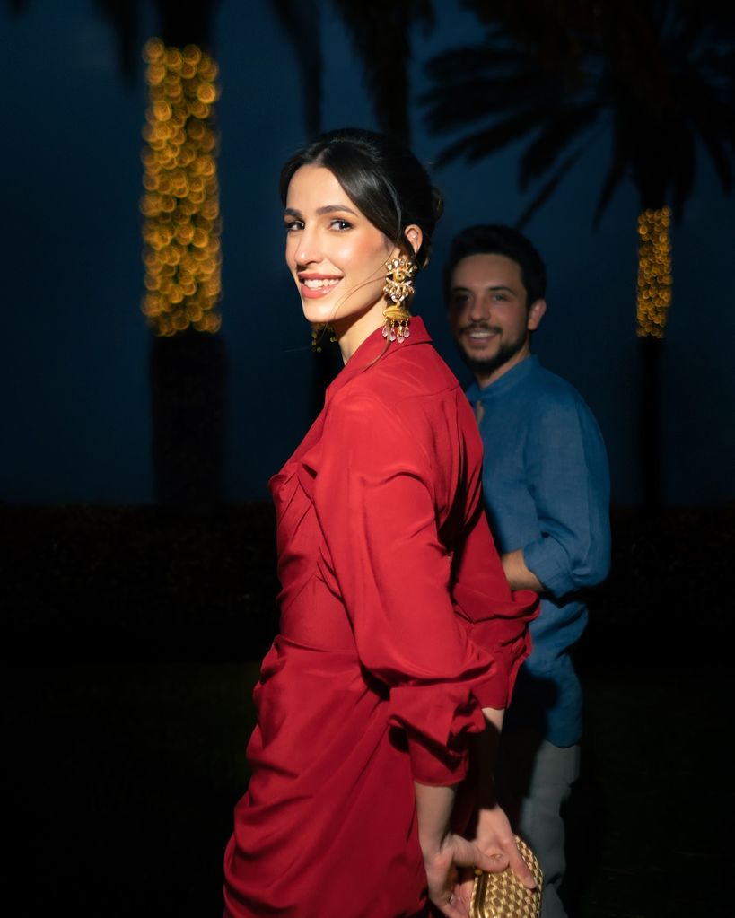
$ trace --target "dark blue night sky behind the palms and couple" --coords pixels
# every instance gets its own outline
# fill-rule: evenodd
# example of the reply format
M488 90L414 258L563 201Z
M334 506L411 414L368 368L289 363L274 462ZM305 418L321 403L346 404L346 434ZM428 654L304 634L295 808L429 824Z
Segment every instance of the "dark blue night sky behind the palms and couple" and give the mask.
M142 6L140 45L156 31ZM414 42L417 95L422 62L479 34L472 16L451 3L437 6L439 28ZM281 163L306 139L308 90L266 0L222 0L216 9L227 494L240 500L266 496L268 476L310 420L309 329L283 263L277 195ZM326 65L323 127L374 127L349 40L326 13L317 28ZM150 331L139 312L144 65L139 61L133 84L125 84L116 37L91 0L29 0L17 16L5 5L0 32L6 116L0 500L146 503L153 494ZM412 113L413 147L430 168L443 139L423 129L418 104ZM621 187L593 231L608 143L602 132L526 232L550 275L535 350L595 411L610 455L613 501L633 504L640 500L637 197L629 183ZM528 198L517 190L517 153L432 171L447 207L414 311L463 381L445 327L441 263L463 225L518 218ZM674 306L662 365L669 504L735 497L734 203L700 151L695 192L673 234Z

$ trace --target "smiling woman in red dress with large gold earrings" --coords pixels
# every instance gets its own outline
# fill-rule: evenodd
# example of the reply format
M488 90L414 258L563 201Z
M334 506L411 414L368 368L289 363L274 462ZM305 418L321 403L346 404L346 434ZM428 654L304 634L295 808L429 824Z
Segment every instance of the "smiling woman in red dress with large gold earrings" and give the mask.
M225 914L459 918L459 868L510 863L533 886L492 763L473 841L451 819L467 821L470 734L489 756L536 597L511 596L472 411L406 310L440 196L413 154L359 129L297 153L281 191L304 314L345 366L271 480L281 633L254 693Z

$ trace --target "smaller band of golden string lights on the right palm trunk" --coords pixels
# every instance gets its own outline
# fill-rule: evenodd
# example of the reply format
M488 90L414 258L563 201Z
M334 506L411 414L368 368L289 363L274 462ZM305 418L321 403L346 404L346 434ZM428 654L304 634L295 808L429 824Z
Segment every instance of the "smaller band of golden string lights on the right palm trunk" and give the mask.
M638 218L638 329L640 338L663 338L671 306L671 207Z

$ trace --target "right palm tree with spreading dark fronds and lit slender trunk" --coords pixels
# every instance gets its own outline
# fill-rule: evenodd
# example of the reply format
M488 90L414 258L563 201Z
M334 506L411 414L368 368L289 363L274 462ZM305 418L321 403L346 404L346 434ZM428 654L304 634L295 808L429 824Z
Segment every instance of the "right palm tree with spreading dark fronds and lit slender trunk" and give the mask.
M463 131L439 164L480 160L528 139L518 161L522 190L543 179L518 219L522 227L607 129L611 160L593 226L629 178L640 202L639 328L642 360L640 460L644 501L660 501L657 363L671 285L668 208L682 217L696 171L697 145L714 164L723 191L733 185L735 31L732 14L707 0L465 0L484 24L481 44L429 62L424 96L429 129ZM655 264L655 262L654 262ZM653 282L651 286L650 282ZM651 312L651 299L657 308Z

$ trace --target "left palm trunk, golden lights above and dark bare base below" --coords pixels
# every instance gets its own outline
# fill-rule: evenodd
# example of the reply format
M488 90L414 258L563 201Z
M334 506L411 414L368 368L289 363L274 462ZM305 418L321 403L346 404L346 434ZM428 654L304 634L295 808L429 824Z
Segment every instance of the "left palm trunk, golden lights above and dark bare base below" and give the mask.
M142 310L150 349L153 487L178 509L224 495L225 341L221 323L217 64L198 45L150 39L143 137Z

